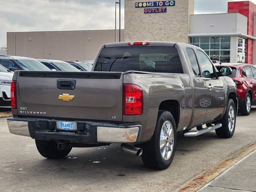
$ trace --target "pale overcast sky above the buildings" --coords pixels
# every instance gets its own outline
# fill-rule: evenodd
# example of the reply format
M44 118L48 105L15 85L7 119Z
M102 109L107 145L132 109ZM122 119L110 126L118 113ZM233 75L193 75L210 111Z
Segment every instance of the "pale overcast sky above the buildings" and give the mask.
M0 0L0 47L6 45L6 32L114 29L116 1ZM194 14L226 13L229 1L241 0L194 0ZM121 0L121 28L123 20Z

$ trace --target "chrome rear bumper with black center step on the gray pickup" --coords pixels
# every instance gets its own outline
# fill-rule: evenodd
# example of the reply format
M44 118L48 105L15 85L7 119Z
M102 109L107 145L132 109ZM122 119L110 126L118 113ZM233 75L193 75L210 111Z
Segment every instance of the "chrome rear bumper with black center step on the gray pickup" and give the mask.
M26 122L25 120L28 120ZM59 131L56 122L44 119L36 120L9 118L7 120L9 131L12 134L30 136L34 139L69 140L74 143L136 143L140 136L140 125L124 126L122 124L108 124L102 122L77 121L78 128L74 132ZM52 126L50 126L50 123ZM82 129L80 128L82 124ZM28 126L29 125L29 126Z

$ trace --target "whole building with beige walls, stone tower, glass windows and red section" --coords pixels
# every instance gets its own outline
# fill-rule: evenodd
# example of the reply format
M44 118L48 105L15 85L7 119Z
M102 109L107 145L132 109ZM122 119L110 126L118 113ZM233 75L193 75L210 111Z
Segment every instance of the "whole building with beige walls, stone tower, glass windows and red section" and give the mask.
M115 30L7 32L7 54L57 60L94 60ZM117 38L119 33L117 31ZM228 2L227 13L194 14L194 0L125 0L121 41L183 42L212 60L256 63L256 5Z

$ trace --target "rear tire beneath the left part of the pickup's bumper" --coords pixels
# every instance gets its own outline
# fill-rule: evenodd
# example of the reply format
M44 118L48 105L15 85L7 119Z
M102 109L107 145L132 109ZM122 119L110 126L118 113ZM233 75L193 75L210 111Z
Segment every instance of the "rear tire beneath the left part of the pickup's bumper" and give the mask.
M66 157L71 149L59 150L56 142L54 141L45 141L36 139L36 148L38 152L45 158L48 159L61 159Z

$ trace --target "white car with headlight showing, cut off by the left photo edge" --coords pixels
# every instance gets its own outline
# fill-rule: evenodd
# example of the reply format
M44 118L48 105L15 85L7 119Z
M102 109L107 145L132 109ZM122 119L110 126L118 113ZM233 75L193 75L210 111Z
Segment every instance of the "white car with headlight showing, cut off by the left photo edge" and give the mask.
M0 65L0 107L11 106L11 82L14 72Z

